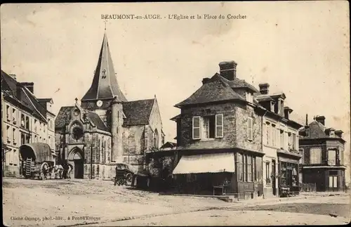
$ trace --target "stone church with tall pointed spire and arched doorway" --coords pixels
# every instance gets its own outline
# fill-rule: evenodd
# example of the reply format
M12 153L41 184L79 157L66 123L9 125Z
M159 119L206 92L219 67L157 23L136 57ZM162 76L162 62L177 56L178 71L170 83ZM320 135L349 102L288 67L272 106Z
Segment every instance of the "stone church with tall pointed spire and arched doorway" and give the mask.
M72 178L114 178L117 163L145 169L145 156L164 144L156 95L128 101L119 88L107 34L102 39L91 87L79 104L60 108L55 119L58 163L73 166Z

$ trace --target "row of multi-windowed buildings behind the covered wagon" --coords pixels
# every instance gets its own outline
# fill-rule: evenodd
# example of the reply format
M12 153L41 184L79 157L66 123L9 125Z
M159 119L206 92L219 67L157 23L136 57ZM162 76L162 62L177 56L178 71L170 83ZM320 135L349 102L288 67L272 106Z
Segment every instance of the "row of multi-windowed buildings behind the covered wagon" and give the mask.
M4 176L20 176L20 145L47 143L55 149L55 131L51 98L34 96L33 82L18 82L14 74L1 70L1 140Z

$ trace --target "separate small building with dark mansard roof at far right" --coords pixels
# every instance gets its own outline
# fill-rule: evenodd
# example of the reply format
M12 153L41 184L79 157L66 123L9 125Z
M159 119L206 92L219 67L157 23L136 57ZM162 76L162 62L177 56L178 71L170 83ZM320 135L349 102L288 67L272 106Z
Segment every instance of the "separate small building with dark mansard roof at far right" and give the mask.
M326 128L324 116L300 131L303 183L315 183L317 191L338 191L345 187L343 131Z

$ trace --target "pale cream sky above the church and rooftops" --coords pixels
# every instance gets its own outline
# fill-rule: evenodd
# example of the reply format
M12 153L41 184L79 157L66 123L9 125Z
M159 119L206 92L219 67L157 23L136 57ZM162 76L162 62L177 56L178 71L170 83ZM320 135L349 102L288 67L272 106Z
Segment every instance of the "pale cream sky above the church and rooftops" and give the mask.
M284 91L293 119L326 117L350 153L350 43L347 1L232 3L2 4L1 69L34 82L54 113L81 99L93 79L105 24L101 14L246 15L246 20L109 20L107 37L128 100L157 95L166 141L173 105L235 60L237 76ZM348 158L350 160L350 157ZM349 174L350 176L350 174Z

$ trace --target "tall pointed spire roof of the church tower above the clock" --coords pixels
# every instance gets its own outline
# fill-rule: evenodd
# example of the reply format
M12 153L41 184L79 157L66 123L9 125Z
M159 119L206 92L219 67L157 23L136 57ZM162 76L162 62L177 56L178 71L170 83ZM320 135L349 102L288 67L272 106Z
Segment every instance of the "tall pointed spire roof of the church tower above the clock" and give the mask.
M105 32L93 83L81 100L112 99L114 96L117 96L117 100L120 102L127 101L121 89L119 89Z

